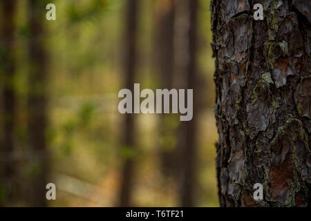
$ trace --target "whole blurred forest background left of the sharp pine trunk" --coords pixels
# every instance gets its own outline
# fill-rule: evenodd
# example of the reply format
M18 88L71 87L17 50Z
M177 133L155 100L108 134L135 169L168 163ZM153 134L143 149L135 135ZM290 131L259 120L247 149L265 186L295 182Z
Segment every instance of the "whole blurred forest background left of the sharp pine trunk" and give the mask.
M209 3L0 0L0 205L218 206ZM194 118L120 114L134 83Z

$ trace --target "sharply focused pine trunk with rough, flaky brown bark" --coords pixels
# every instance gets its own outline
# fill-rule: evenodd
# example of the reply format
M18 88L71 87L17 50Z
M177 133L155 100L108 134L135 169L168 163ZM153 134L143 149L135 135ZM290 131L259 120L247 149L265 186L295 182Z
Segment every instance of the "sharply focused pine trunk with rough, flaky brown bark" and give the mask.
M212 1L211 12L220 205L310 206L310 1Z

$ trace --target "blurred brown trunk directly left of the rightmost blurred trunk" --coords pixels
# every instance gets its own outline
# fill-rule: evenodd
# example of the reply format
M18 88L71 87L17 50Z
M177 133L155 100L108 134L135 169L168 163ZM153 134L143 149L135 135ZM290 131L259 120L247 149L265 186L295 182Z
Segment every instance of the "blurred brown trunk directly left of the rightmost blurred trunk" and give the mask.
M155 67L160 74L161 88L173 88L173 54L174 54L174 17L175 1L156 1L156 41ZM163 104L162 104L163 105ZM176 146L173 142L175 128L167 117L171 115L160 115L160 160L162 172L165 176L172 175L176 171ZM172 138L173 136L173 138ZM169 139L167 139L169 137Z

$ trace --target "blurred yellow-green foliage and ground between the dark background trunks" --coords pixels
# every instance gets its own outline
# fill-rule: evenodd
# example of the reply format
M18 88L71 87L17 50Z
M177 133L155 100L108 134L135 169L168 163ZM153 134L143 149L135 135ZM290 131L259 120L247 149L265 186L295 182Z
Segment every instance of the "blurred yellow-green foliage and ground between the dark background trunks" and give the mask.
M110 1L104 12L71 21L74 4L82 10L89 1L55 0L57 21L50 22L46 39L49 64L49 148L52 152L50 182L57 184L57 200L50 206L115 206L123 157L134 157L133 206L178 206L178 186L160 173L158 155L160 115L138 115L134 152L120 148L122 120L117 111L122 82L124 1ZM19 23L25 10L19 6ZM153 0L141 1L138 35L138 82L158 88L152 65ZM201 0L198 12L199 73L205 83L198 113L198 206L218 206L214 119L214 59L211 52L209 1ZM71 14L70 14L71 13ZM21 28L22 32L22 28ZM25 42L21 41L21 44ZM159 46L160 47L160 46ZM21 47L22 48L22 47ZM19 51L23 55L23 50ZM20 85L23 68L19 61ZM194 88L195 90L196 88ZM19 97L23 100L23 87ZM21 121L23 113L19 113ZM179 117L179 116L178 116ZM171 124L179 124L178 117ZM21 128L22 131L22 128ZM176 142L176 137L169 137Z

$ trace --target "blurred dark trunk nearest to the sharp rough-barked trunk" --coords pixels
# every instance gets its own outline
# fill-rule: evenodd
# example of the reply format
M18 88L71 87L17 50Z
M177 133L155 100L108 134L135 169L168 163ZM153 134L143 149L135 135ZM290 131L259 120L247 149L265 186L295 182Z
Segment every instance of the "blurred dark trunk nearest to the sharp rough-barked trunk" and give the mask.
M181 206L195 206L196 187L196 115L198 115L198 95L196 95L197 79L197 12L198 0L189 3L189 63L187 66L187 88L194 89L194 117L189 122L182 122L185 127L186 143L182 148L181 159Z

